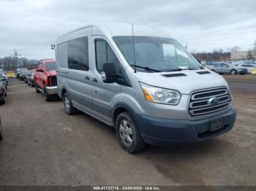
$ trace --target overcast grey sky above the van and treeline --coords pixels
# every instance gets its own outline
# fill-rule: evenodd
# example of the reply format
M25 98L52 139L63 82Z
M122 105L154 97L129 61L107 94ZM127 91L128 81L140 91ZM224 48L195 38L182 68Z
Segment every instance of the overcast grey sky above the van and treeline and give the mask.
M13 48L27 58L54 58L50 44L86 23L137 23L162 28L190 51L256 40L256 0L0 0L0 57Z

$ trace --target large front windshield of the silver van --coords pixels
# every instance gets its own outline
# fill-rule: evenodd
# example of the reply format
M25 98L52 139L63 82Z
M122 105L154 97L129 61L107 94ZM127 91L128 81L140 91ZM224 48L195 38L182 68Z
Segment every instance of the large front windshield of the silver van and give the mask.
M132 36L114 36L113 40L129 65L142 66L138 71L147 71L143 67L156 71L200 69L197 61L174 39L134 36L135 53Z

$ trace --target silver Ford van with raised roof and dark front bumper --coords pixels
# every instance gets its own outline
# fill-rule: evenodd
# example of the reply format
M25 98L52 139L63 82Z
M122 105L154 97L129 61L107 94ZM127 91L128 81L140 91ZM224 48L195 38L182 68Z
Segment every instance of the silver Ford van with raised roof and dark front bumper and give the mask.
M227 82L164 31L125 23L87 25L56 42L58 93L116 128L121 147L196 143L233 128Z

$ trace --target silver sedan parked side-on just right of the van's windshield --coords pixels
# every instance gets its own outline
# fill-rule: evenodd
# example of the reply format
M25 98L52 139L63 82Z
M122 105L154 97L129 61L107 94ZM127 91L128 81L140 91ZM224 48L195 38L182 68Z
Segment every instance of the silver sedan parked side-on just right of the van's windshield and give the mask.
M217 72L219 74L246 74L247 69L235 66L230 63L217 63L214 66L208 66L211 71Z

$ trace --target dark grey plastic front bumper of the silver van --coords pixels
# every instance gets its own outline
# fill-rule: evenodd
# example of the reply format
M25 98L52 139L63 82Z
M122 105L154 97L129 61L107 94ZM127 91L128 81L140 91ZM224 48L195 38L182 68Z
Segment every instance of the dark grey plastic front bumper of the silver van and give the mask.
M138 125L144 141L153 145L173 143L197 143L219 136L233 128L236 111L232 108L225 114L200 120L167 120L138 114ZM223 128L210 131L211 120L222 118Z

